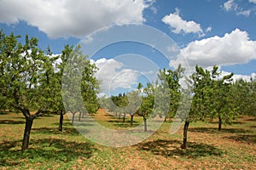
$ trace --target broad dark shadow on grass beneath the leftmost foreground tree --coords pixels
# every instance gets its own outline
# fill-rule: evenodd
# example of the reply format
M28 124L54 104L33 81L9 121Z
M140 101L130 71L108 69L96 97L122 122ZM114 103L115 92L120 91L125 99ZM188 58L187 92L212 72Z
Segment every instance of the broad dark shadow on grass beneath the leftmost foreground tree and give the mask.
M20 141L3 141L0 146L0 167L13 167L27 163L69 162L79 157L90 158L96 150L91 143L76 143L65 139L31 140L28 150L10 150L20 144Z

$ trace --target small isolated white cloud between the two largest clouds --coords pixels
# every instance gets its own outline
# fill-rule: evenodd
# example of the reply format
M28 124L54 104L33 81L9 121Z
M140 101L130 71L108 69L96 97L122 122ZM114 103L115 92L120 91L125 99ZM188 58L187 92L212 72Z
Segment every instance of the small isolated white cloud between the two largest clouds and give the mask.
M172 32L179 33L197 33L203 34L201 25L193 20L183 20L179 15L179 10L176 8L176 12L166 15L162 21L173 28Z

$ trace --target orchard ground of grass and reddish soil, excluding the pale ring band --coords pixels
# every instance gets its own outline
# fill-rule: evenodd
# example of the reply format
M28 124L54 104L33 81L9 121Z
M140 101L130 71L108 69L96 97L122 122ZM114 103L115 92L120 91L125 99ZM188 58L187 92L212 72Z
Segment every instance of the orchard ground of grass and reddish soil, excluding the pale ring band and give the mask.
M95 119L111 128L129 127L104 111ZM256 118L243 116L218 132L217 122L192 122L189 148L180 149L182 129L169 132L171 122L142 143L123 148L107 147L85 139L65 116L63 132L59 116L35 119L29 150L20 150L25 127L22 114L0 115L0 169L256 169ZM135 117L136 123L143 122Z

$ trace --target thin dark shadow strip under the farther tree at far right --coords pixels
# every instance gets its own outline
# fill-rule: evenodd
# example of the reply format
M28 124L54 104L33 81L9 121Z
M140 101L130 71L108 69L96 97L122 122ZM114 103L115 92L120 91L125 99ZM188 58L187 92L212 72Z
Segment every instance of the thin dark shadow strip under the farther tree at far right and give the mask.
M222 128L218 131L218 127L191 127L189 132L195 133L251 133L250 130L242 128Z

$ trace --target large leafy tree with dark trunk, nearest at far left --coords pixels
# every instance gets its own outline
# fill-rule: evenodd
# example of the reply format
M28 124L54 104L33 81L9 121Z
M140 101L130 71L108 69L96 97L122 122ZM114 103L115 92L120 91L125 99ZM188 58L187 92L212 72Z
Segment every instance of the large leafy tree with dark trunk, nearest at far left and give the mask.
M49 81L51 61L38 48L38 39L26 35L25 44L18 42L20 36L6 36L0 31L1 94L9 108L21 111L26 118L22 150L29 145L32 123L49 109L48 99L52 95L49 87L41 86ZM40 101L38 101L40 99ZM35 111L34 114L31 111Z

